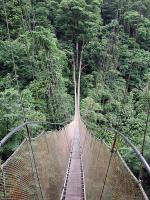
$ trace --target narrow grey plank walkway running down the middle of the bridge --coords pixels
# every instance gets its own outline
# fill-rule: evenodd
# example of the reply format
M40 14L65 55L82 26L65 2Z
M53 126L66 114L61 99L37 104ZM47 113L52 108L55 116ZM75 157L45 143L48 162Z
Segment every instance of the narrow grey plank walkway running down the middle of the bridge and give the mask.
M85 200L78 128L75 129L62 200Z

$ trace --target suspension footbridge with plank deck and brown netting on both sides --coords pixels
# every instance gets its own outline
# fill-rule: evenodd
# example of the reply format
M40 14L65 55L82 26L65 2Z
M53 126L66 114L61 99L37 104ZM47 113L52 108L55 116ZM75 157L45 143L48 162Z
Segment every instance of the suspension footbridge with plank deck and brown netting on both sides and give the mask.
M28 127L33 123L15 128L0 143L2 147L12 135L27 128L27 137L1 166L1 200L148 199L116 150L119 133L109 148L87 131L80 117L59 131L43 131L31 138ZM135 153L150 172L136 148Z

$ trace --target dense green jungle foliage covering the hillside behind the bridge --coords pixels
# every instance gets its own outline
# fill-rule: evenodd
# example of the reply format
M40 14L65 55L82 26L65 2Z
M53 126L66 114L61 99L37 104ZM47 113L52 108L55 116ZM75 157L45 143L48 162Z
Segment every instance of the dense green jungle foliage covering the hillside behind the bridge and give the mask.
M111 142L113 126L150 163L150 1L0 0L0 139L28 120L64 121L74 114L73 65L81 69L81 116ZM23 109L22 109L23 108ZM56 128L56 127L52 127ZM37 129L37 126L34 127ZM1 152L8 157L21 141ZM138 176L140 163L120 141ZM147 175L143 169L143 179Z

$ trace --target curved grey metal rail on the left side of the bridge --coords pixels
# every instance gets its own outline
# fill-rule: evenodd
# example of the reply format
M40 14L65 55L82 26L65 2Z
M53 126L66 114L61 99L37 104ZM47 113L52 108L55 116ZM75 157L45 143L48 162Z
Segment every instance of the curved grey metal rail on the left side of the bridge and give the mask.
M51 124L51 125L64 125L69 122L71 122L72 119L64 121L64 122L48 122L48 121L26 121L23 124L15 127L12 131L10 131L1 141L0 141L0 147L2 147L14 134L16 134L18 131L20 131L22 128L26 127L27 125L32 124Z

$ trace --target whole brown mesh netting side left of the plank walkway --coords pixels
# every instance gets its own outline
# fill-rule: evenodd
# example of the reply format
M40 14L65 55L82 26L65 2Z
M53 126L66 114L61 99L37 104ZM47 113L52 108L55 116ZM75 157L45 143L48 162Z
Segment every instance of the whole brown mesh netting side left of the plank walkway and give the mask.
M0 199L57 200L69 159L71 124L25 140L2 165ZM5 195L4 195L5 194Z

